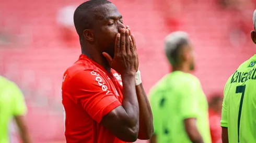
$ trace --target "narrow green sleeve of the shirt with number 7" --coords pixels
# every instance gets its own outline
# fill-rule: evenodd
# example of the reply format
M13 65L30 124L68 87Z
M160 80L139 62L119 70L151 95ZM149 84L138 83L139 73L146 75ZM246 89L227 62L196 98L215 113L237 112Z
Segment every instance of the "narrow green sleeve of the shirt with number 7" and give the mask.
M222 127L228 127L228 121L227 121L227 86L230 83L230 78L227 81L225 88L224 88L224 99L223 99L223 103L222 103L222 120L220 120L220 126Z

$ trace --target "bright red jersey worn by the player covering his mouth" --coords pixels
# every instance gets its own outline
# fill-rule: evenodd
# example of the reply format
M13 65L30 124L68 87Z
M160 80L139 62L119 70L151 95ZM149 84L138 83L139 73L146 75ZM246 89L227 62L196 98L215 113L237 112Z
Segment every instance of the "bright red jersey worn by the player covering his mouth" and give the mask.
M123 143L100 124L102 117L122 103L121 75L103 69L85 55L63 75L67 143Z

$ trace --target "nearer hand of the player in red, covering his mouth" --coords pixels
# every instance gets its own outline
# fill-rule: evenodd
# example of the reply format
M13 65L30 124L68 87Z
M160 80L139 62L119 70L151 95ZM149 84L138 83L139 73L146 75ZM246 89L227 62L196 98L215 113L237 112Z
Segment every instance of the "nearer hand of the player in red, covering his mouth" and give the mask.
M138 62L133 41L129 35L129 30L122 29L121 34L117 34L114 50L114 59L112 59L108 53L102 53L111 68L119 72L121 75L135 74Z

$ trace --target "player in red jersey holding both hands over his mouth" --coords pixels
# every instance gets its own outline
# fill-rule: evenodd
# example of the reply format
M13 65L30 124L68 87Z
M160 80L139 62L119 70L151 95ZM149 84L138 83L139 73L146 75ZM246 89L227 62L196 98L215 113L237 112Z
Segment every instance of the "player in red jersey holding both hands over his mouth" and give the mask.
M82 55L63 75L67 143L149 139L152 111L145 94L134 35L109 1L77 7L74 23Z

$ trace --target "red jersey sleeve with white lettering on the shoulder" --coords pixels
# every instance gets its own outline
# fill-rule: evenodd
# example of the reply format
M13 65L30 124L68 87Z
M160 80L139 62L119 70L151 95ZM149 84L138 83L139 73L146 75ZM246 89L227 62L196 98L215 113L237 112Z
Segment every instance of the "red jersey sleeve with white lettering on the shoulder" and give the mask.
M121 105L110 90L107 78L94 70L76 73L70 80L70 88L75 102L94 119L100 122L102 117Z

